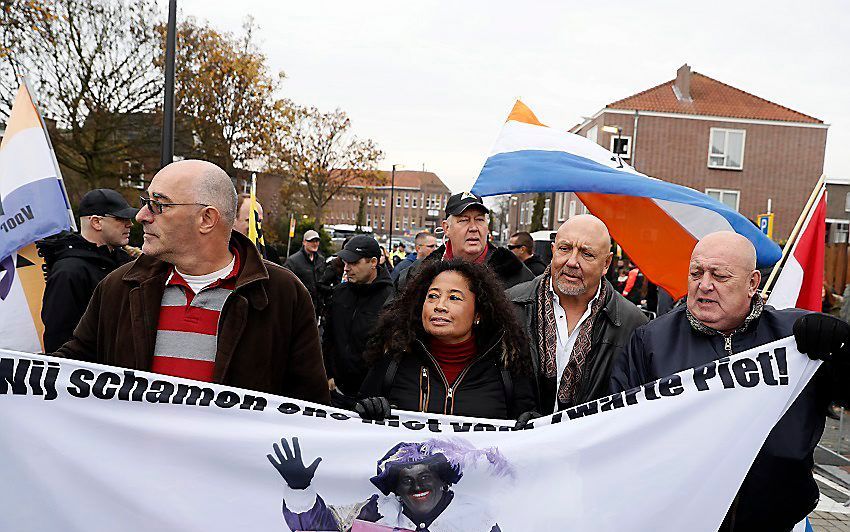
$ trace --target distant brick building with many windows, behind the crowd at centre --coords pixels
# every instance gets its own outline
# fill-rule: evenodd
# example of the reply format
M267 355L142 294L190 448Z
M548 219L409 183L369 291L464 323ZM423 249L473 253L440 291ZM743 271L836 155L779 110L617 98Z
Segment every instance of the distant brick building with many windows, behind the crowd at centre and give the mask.
M325 224L356 225L361 198L364 203L363 225L376 234L390 228L391 172L382 171L380 186L354 183L340 191L325 209ZM412 237L419 231L432 231L443 219L443 209L451 192L433 172L396 170L393 235Z

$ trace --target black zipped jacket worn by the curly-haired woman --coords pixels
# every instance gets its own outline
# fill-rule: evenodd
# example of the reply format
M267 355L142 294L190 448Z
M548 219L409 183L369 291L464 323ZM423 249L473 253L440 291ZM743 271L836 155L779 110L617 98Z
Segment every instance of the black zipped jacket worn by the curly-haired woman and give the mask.
M505 369L501 346L499 335L479 349L476 358L449 386L434 356L417 340L409 352L388 353L375 362L360 396L386 397L393 408L414 412L515 419L537 409L534 382L529 376Z

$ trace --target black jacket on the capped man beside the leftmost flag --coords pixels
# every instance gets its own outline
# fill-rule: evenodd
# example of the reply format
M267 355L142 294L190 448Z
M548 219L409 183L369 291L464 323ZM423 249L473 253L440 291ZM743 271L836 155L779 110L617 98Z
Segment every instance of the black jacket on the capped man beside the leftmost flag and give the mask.
M97 284L132 257L123 249L110 251L71 232L45 238L36 246L47 268L41 320L44 349L51 353L74 334Z

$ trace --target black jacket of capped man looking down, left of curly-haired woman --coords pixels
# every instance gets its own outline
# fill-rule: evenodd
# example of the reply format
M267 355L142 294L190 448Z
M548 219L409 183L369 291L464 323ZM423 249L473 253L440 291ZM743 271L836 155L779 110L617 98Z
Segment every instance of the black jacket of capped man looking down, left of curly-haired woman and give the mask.
M386 268L369 284L342 283L334 288L325 322L322 352L328 378L346 395L354 397L366 376L363 359L366 341L378 323L393 284Z

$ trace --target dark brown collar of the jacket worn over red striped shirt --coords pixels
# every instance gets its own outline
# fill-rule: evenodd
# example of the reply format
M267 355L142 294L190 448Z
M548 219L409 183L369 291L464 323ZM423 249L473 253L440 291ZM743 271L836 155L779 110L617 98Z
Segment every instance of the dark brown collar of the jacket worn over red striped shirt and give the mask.
M260 257L260 252L248 237L236 231L230 233L230 246L236 248L242 262L236 277L236 290L243 291L243 295L248 298L254 308L265 308L269 302L266 290L262 284L255 284L257 281L266 281L269 278L268 269ZM122 280L141 284L157 276L164 278L171 266L168 262L142 254L124 273Z

